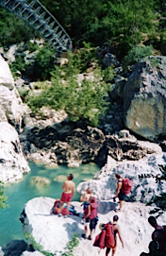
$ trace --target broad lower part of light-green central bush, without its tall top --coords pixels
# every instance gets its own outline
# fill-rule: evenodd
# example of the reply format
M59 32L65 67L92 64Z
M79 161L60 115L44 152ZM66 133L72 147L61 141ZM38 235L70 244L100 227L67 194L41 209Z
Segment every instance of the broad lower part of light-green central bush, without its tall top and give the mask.
M28 98L32 111L38 112L42 106L55 110L65 110L73 121L85 117L97 126L99 116L106 110L104 96L108 85L104 82L91 82L85 79L81 87L75 77L68 77L64 82L60 77L52 77L52 86L39 95Z

